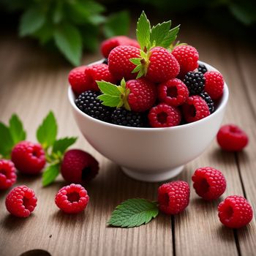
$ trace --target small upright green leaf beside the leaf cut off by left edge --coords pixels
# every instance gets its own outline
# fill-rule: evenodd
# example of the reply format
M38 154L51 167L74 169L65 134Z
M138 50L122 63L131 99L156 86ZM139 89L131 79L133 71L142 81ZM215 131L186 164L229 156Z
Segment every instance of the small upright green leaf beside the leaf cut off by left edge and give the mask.
M26 132L23 129L23 124L16 114L12 115L9 120L9 124L10 134L14 144L20 142L21 140L26 140Z

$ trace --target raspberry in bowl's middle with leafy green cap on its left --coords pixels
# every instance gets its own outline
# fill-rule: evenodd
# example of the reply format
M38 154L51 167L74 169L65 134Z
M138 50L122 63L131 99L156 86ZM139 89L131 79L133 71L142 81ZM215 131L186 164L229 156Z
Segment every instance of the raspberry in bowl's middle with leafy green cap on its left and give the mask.
M130 91L129 107L135 112L144 112L152 108L157 99L156 86L145 78L127 81L126 88Z

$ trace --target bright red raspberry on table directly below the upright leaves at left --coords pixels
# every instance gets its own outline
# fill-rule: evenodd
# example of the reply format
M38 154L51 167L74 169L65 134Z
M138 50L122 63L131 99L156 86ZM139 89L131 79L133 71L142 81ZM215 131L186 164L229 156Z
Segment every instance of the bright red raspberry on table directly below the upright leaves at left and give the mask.
M20 173L37 174L45 167L45 151L38 143L20 141L12 148L12 162Z

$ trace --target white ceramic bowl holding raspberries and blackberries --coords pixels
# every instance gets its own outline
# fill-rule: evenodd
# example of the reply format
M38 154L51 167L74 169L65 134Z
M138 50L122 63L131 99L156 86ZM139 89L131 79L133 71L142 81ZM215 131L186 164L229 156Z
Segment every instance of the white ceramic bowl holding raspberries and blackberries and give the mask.
M203 63L203 62L202 62ZM206 65L208 70L217 71ZM75 105L69 86L69 102L83 136L99 153L116 162L128 176L140 181L165 181L181 173L216 136L228 99L224 94L214 113L191 124L167 128L122 127L99 121Z

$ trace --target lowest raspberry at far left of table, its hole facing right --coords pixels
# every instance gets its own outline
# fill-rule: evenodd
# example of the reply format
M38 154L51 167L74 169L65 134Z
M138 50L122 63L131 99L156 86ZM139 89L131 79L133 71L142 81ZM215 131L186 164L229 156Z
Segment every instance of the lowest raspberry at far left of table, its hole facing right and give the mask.
M10 214L17 217L29 217L37 206L37 197L33 189L19 186L12 189L6 197L5 205Z

